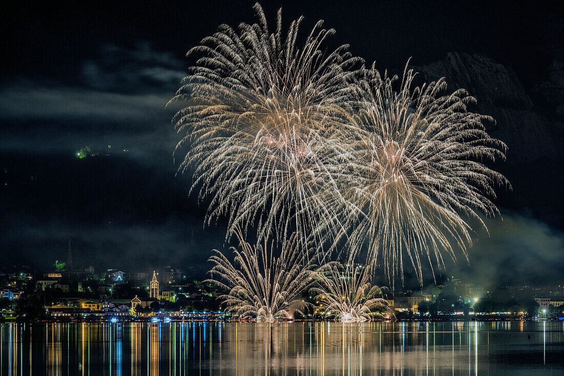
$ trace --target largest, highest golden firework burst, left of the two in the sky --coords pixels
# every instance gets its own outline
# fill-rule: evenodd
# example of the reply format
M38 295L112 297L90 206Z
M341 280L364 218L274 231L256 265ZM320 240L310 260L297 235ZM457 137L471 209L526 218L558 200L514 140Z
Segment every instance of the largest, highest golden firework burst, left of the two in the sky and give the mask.
M304 244L316 222L343 233L333 174L343 158L342 132L357 98L352 67L362 59L346 45L322 51L333 29L319 21L297 47L302 17L286 36L277 14L270 33L261 6L259 22L237 33L222 25L192 52L204 54L173 100L187 100L173 122L187 144L180 170L195 166L192 189L210 196L208 223L226 215L229 233L258 225L259 240L298 231ZM276 233L276 235L275 235Z

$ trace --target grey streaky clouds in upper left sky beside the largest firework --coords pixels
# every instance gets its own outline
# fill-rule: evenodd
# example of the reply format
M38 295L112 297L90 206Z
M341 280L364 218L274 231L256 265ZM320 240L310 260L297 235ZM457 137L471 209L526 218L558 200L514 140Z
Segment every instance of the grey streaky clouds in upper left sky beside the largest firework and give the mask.
M186 75L182 61L148 43L104 45L73 75L32 82L12 78L0 89L0 151L73 153L89 145L127 149L153 165L173 164L177 142L165 109Z

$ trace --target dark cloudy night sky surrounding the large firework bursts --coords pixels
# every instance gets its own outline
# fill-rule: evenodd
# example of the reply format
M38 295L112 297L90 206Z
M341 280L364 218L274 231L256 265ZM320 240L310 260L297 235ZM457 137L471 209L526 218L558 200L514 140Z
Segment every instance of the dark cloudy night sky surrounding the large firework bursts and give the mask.
M253 23L253 3L18 2L1 12L4 266L47 269L66 257L69 239L75 266L127 270L205 266L210 249L224 247L224 224L204 227L205 205L189 196L190 176L176 174L175 108L165 104L193 63L186 51L223 23ZM302 33L324 19L337 30L329 47L348 43L381 70L399 72L409 57L424 67L459 52L514 72L544 127L527 137L542 145L543 134L550 150L530 154L517 144L496 163L514 188L496 200L503 220L488 219L490 236L477 231L470 265L461 257L446 274L540 283L564 277L564 38L556 4L262 5L271 25L280 6L285 25L305 16ZM503 135L504 119L497 122ZM79 160L85 146L99 155Z

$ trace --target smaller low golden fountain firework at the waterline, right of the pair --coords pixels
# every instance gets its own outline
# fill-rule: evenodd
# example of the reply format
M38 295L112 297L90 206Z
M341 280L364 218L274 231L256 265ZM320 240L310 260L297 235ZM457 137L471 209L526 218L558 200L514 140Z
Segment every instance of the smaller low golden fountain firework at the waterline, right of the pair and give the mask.
M367 267L331 262L318 269L318 284L312 287L315 300L323 302L324 316L340 321L366 321L395 317L382 298L382 289L373 286L374 262Z

